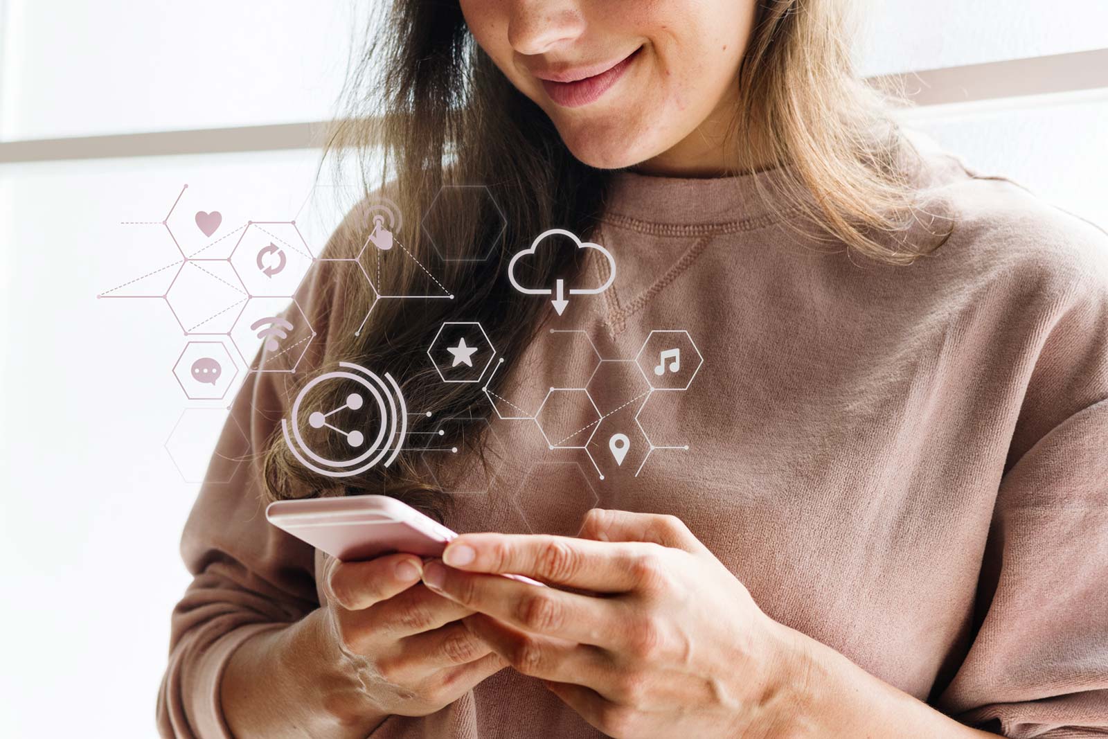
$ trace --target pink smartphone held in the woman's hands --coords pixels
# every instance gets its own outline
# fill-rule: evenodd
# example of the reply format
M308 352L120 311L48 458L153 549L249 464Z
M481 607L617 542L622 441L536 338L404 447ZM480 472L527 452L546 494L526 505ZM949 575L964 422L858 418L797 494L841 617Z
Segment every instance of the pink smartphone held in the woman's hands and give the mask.
M370 560L392 552L438 557L447 543L458 536L387 495L275 501L266 506L266 520L342 562ZM523 575L505 577L542 585Z

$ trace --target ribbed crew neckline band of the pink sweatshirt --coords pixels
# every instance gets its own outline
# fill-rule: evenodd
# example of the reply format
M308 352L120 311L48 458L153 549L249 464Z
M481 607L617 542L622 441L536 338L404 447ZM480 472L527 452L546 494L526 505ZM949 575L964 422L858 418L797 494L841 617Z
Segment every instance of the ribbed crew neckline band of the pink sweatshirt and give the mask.
M609 175L604 218L663 228L772 223L794 208L786 193L799 175L792 165L722 177L671 177L617 170ZM807 191L801 191L810 197ZM729 228L728 228L729 229Z

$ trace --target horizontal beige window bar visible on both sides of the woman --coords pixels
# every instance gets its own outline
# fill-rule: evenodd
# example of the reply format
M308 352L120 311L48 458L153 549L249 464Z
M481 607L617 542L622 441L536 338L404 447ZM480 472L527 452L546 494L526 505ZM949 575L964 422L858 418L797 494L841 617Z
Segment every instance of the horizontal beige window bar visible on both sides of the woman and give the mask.
M1108 49L868 78L916 109L1108 89ZM911 112L909 112L911 115ZM329 123L278 123L0 142L0 164L318 148Z

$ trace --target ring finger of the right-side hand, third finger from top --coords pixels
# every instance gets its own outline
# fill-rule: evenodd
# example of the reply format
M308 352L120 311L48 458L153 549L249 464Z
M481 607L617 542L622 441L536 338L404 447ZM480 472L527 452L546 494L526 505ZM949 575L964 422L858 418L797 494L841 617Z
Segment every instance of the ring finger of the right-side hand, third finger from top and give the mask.
M464 623L482 644L523 675L593 687L613 682L615 664L599 647L526 634L484 614L469 616Z

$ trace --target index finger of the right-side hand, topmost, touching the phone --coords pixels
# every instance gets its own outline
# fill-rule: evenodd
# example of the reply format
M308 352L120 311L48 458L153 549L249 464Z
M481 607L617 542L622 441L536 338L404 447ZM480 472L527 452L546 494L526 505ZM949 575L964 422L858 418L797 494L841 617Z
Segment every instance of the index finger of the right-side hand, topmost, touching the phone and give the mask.
M625 593L642 585L639 567L648 546L570 536L463 534L447 546L442 558L469 572L514 573L597 593Z

